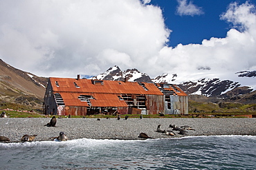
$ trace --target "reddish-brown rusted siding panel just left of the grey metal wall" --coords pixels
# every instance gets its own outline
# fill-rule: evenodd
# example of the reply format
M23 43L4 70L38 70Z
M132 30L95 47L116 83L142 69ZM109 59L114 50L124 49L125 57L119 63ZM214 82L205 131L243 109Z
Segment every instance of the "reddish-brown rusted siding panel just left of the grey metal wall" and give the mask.
M159 114L164 112L164 97L156 95L146 95L147 114Z

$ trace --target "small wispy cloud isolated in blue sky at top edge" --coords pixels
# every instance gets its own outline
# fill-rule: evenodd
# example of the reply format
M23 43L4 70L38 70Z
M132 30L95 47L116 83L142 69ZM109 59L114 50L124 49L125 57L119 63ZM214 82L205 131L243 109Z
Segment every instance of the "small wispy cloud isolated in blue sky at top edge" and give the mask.
M198 7L192 3L192 1L187 0L177 0L179 5L177 6L176 12L179 15L200 15L203 14L203 10L201 7Z

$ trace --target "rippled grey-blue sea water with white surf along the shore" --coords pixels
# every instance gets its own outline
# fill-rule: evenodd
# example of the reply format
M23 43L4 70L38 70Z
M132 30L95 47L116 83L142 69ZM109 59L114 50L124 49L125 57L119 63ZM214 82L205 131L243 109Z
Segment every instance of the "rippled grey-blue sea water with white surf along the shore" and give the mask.
M256 136L0 143L0 169L256 169Z

